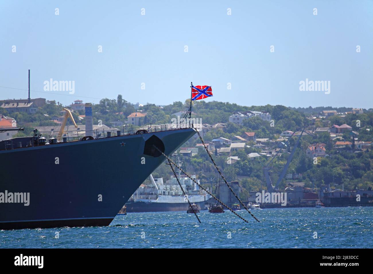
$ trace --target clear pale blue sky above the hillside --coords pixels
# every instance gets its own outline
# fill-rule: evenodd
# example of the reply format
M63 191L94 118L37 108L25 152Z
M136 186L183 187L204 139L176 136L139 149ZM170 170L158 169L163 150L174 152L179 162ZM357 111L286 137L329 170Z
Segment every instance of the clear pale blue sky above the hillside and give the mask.
M63 104L117 94L133 103L170 104L189 98L193 81L212 86L214 97L206 101L371 108L372 14L372 0L3 0L0 86L27 89L31 69L35 91L44 91L50 78L75 81L74 96L32 92ZM330 94L300 91L306 78L330 81ZM26 98L27 92L0 88L0 95Z

